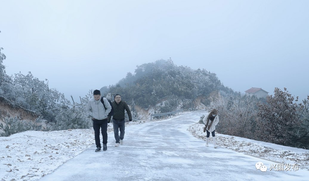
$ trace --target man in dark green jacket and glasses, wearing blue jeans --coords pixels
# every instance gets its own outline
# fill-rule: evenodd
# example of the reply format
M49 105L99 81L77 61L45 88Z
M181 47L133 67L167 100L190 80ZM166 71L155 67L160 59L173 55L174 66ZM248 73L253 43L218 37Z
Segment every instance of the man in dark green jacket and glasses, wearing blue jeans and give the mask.
M132 114L128 104L125 101L121 101L121 96L119 94L115 95L115 101L113 101L112 104L114 107L113 126L116 140L115 146L119 146L119 144L123 144L123 138L125 136L125 110L128 113L129 121L132 121ZM111 117L108 116L108 119L110 120ZM120 135L118 131L120 131Z

